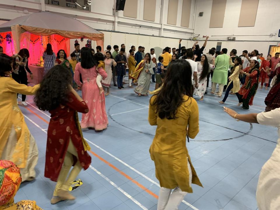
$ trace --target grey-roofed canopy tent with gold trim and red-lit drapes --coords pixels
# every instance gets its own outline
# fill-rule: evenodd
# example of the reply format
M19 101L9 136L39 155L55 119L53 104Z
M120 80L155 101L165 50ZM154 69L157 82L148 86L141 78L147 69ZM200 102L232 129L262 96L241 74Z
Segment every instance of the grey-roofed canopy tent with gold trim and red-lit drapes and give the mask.
M55 13L33 13L0 25L0 45L5 53L11 55L21 48L27 48L30 63L40 59L48 43L52 44L55 53L64 49L69 56L70 39L73 38L94 40L97 45L104 46L103 33L74 18Z

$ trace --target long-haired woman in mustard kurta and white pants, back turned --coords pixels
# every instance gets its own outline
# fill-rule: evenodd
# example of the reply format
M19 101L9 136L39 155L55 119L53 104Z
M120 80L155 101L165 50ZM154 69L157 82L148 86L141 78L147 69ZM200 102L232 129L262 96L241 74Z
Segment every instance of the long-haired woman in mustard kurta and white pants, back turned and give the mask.
M193 139L199 131L191 72L187 61L172 62L161 91L150 99L148 120L157 125L150 155L161 187L158 210L177 209L183 197L192 192L191 183L202 186L186 148L187 134Z

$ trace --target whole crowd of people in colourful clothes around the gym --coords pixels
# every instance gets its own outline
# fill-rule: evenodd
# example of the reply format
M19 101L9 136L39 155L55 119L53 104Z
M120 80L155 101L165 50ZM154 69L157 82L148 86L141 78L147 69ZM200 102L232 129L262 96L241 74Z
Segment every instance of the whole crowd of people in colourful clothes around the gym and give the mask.
M225 92L220 104L224 104L232 92L239 101L237 105L242 104L244 109L249 109L249 105L253 104L258 88L271 85L265 98L266 112L240 115L229 108L225 108L225 111L237 121L280 127L277 120L280 113L279 53L273 57L268 55L265 60L258 50L251 53L244 50L242 55L237 56L237 50L232 49L228 56L226 48L216 51L213 47L204 54L208 38L201 48L195 42L188 49L181 46L180 40L177 49L165 47L158 57L154 48L150 49L150 53L145 53L143 46L139 46L136 53L135 46L132 46L129 55L126 55L125 44L121 45L120 50L114 45L113 53L110 45L104 52L101 52L101 46L97 46L95 53L94 49L80 49L79 43L75 43L75 50L68 60L65 50L58 50L55 55L52 46L48 44L43 53L44 78L33 87L27 83L27 72L33 79L28 68L29 51L23 48L10 57L3 53L0 46L0 107L5 110L0 117L0 157L12 161L4 162L4 166L0 162L0 170L1 167L15 168L16 164L21 173L21 180L14 183L17 186L21 181L31 181L36 176L36 141L17 105L18 94L22 94L24 106L27 105L26 95L35 95L36 106L40 110L49 111L51 117L45 164L45 177L57 182L51 203L75 199L68 188L79 172L88 169L91 163L87 152L90 147L83 139L82 129L101 131L107 128L105 95L110 93L112 79L115 87L120 90L125 88L124 76L128 70L129 88L134 85L134 92L139 97L153 94L148 121L150 125L157 125L150 155L155 162L156 176L161 186L158 209L176 209L183 197L192 192L191 183L202 186L192 166L185 141L187 136L195 138L199 132L199 111L193 96L199 97L200 101L204 99L210 77L211 94L222 97ZM155 83L153 91L150 91L151 82ZM79 90L82 91L82 97L78 95ZM81 122L78 112L82 113ZM275 166L279 161L277 155L279 149L276 148L273 158L265 165L266 169L279 170L279 164ZM260 210L266 209L267 200L269 205L279 207L277 189L273 188L268 194L267 189L270 188L265 182L266 179L274 178L279 186L280 178L277 174L271 177L266 170L261 171L257 191ZM172 189L174 191L171 194ZM273 193L277 195L276 199L267 197L273 197ZM2 198L0 200L0 205L10 205L9 202L3 202Z

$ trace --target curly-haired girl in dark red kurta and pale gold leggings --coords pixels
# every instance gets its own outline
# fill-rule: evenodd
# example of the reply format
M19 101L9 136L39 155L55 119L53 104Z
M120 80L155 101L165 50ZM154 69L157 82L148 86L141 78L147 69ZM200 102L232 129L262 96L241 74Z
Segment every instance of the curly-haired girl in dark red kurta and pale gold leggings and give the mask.
M87 113L88 106L72 88L70 72L60 65L51 68L44 77L35 103L51 114L45 165L45 177L57 182L51 204L73 200L75 197L68 191L71 182L91 163L86 152L90 147L83 139L77 114Z

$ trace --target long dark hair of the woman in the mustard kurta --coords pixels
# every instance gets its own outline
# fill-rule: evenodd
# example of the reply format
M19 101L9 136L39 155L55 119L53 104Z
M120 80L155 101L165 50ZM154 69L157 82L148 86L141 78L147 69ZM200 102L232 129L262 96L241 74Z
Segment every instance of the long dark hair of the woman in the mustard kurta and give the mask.
M156 112L161 119L176 118L178 107L185 102L183 96L187 95L189 99L193 95L191 80L192 69L188 61L176 60L170 63L162 90L151 97L151 99L156 97L153 102L150 100L150 103L155 105Z

